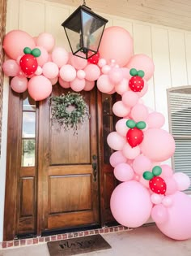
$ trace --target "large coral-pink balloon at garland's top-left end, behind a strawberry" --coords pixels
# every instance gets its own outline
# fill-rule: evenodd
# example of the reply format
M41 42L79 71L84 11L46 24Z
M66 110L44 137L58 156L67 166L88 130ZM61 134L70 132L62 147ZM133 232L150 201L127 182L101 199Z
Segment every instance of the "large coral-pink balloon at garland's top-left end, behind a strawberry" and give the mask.
M25 47L34 49L35 46L33 38L22 30L11 30L11 32L6 34L3 40L3 49L6 55L9 56L10 59L15 60L23 55L23 49Z

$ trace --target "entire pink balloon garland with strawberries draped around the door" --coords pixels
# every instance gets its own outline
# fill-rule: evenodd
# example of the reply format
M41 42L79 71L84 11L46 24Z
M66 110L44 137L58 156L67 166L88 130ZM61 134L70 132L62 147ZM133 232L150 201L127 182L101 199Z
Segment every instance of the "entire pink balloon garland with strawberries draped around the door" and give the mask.
M175 141L162 129L164 117L142 102L153 76L154 63L145 54L134 54L133 39L121 27L104 30L99 53L83 59L55 46L49 33L31 37L21 30L7 33L3 41L7 59L2 65L17 93L28 89L40 101L48 98L57 82L74 92L118 93L112 111L121 117L108 145L114 175L121 184L111 197L112 215L118 223L136 228L151 216L163 234L175 240L191 238L189 176L174 172L163 161L172 157ZM82 53L83 54L83 53Z

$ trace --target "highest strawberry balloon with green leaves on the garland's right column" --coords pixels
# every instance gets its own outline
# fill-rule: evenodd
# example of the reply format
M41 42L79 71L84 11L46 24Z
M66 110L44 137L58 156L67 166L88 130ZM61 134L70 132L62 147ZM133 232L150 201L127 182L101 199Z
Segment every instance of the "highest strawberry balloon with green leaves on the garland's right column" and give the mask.
M131 68L129 73L131 76L133 76L129 80L129 88L133 92L141 92L144 87L144 80L142 77L145 75L145 73L142 70L137 71L135 68Z

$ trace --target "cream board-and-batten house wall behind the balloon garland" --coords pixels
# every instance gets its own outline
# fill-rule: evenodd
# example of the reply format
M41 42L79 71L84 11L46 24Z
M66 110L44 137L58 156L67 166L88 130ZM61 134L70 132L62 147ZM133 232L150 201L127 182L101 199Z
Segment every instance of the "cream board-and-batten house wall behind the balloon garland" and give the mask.
M6 33L21 29L32 37L51 33L56 46L70 51L61 24L77 7L69 7L45 0L8 0ZM167 89L191 85L191 32L129 20L114 15L98 13L108 20L107 27L121 26L134 39L134 54L146 54L155 63L154 76L143 97L144 104L159 111L166 119L163 126L168 130ZM6 124L8 110L8 79L5 78L2 113L2 156L0 158L0 241L3 234L3 212L6 173Z

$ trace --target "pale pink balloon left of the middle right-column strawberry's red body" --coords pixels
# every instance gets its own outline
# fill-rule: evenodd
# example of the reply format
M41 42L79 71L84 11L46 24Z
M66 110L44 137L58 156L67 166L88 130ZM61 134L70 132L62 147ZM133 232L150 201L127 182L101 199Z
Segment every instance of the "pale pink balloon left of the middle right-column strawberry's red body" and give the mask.
M112 150L122 150L126 139L121 137L117 132L110 132L107 137L107 142Z

